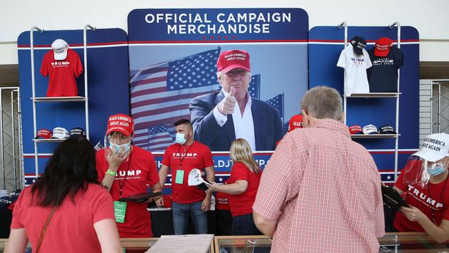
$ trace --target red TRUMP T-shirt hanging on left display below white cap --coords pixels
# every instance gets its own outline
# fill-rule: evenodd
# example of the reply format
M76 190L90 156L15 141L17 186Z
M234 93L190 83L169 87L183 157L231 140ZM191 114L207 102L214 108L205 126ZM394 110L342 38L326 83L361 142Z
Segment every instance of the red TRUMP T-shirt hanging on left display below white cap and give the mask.
M75 77L83 73L83 66L79 55L70 48L67 49L67 57L63 60L56 60L53 50L44 55L41 66L41 74L46 77L50 75L48 81L47 97L74 97L78 95L77 82Z

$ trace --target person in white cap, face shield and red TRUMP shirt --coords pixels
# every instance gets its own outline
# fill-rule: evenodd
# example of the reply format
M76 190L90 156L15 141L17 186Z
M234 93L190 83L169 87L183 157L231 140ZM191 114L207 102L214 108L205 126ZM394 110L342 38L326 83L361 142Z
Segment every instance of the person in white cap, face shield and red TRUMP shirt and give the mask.
M449 135L427 135L421 149L414 153L394 183L410 205L401 207L394 218L399 232L426 232L438 243L449 238ZM422 175L413 182L409 175ZM429 178L427 181L424 178Z

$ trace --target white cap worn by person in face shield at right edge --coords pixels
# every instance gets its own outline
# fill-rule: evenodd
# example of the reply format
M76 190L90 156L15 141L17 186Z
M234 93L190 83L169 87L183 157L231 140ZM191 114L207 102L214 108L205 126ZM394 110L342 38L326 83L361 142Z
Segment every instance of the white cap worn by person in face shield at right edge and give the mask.
M449 156L449 134L433 133L424 138L421 149L413 156L419 156L429 162L441 160Z

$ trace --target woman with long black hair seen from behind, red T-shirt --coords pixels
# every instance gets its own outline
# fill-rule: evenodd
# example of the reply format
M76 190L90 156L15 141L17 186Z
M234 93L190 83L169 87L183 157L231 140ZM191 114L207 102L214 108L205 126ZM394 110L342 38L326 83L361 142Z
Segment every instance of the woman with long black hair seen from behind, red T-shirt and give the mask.
M85 138L61 142L44 174L23 189L5 252L122 252L113 200L98 183Z

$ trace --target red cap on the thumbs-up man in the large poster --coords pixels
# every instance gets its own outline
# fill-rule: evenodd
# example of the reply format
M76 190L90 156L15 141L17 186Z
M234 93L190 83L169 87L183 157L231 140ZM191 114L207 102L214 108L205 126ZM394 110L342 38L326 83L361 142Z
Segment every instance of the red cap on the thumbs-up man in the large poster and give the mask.
M217 71L226 74L234 68L243 68L245 71L251 71L249 66L249 53L245 50L225 50L217 60Z

